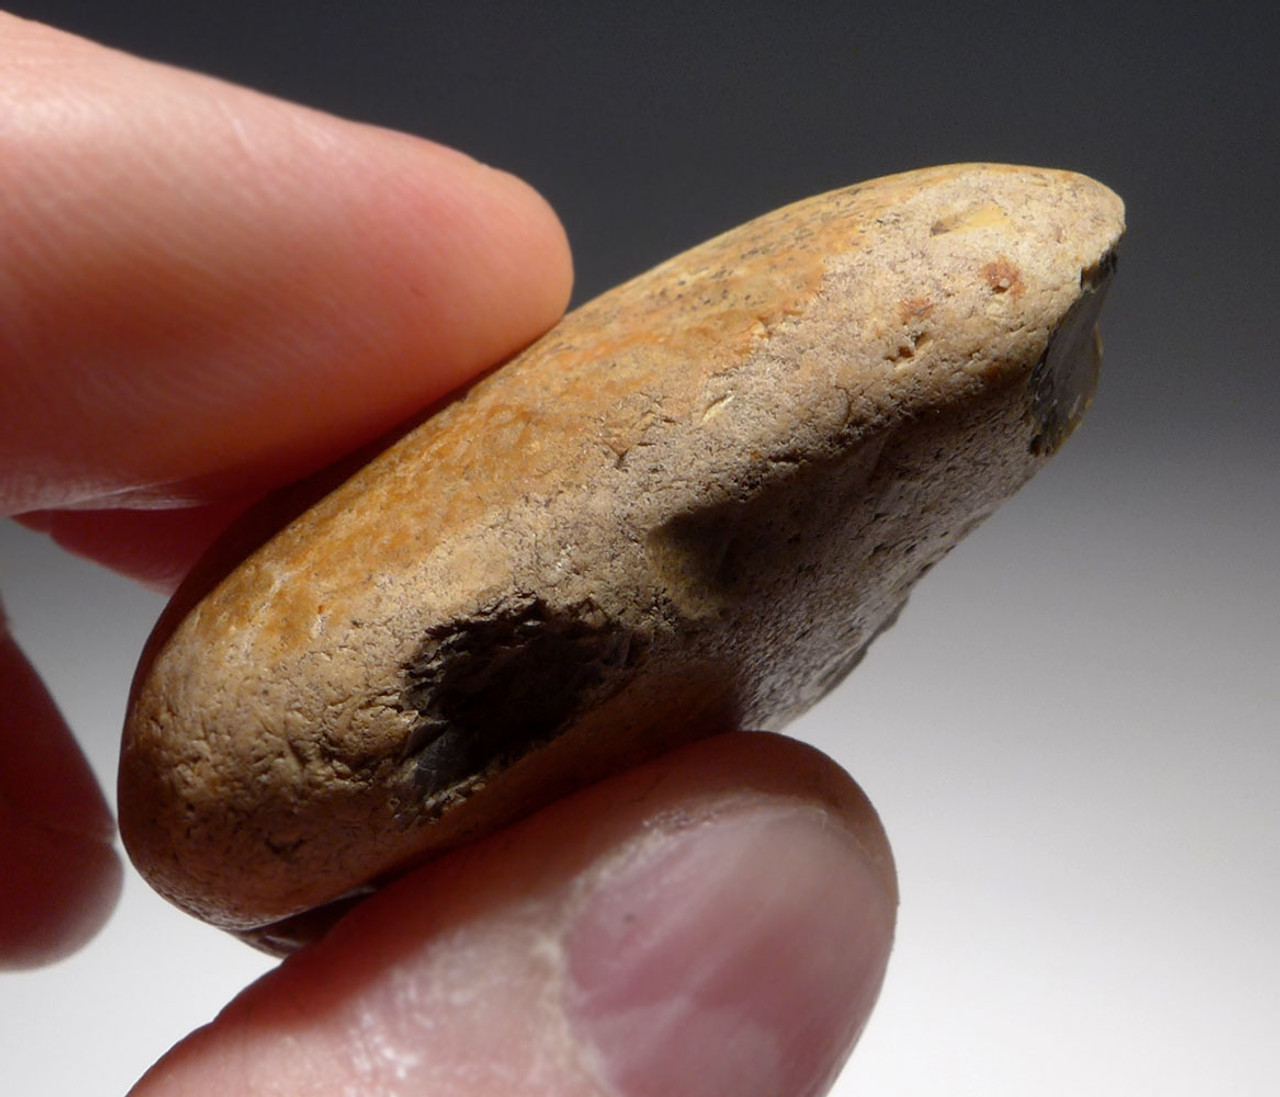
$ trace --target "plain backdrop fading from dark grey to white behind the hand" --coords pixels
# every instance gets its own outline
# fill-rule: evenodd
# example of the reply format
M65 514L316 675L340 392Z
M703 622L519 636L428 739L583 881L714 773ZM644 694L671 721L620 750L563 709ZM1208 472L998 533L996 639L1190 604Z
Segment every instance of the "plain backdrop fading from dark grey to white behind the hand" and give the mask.
M795 727L904 905L838 1093L1274 1092L1280 1077L1280 44L1263 4L18 3L530 179L576 300L931 163L1126 200L1093 413ZM159 600L0 527L15 629L105 783ZM5 1092L120 1092L262 969L131 879L0 982ZM12 1087L12 1088L10 1088Z

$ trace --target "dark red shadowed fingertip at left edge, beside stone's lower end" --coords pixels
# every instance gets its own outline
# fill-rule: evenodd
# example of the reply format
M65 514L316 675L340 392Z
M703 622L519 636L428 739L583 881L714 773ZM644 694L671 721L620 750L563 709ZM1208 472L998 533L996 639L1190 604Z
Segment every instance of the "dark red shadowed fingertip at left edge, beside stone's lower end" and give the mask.
M106 801L0 607L0 969L58 960L120 891Z

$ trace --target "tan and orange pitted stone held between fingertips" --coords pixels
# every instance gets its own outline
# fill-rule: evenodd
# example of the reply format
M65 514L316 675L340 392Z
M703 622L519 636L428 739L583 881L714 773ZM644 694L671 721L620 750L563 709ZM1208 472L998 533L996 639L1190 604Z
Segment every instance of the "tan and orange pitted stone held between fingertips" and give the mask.
M1121 232L1080 175L927 169L577 310L179 595L125 730L134 863L269 941L658 750L782 727L1079 420Z

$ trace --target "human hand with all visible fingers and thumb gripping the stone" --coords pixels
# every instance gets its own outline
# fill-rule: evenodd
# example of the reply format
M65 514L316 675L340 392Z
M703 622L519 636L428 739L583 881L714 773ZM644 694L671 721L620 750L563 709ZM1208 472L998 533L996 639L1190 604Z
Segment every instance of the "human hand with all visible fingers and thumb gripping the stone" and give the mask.
M232 516L527 343L568 297L525 184L0 14L0 513L172 589ZM119 887L101 794L0 631L0 964ZM822 1092L892 936L827 759L708 740L443 858L141 1094Z

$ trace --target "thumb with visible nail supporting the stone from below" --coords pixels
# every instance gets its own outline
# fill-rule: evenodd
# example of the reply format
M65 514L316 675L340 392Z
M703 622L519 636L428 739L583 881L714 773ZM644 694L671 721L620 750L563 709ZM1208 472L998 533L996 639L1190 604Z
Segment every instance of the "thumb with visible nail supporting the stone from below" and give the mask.
M707 740L374 896L134 1097L801 1097L876 1000L892 863L833 763Z

